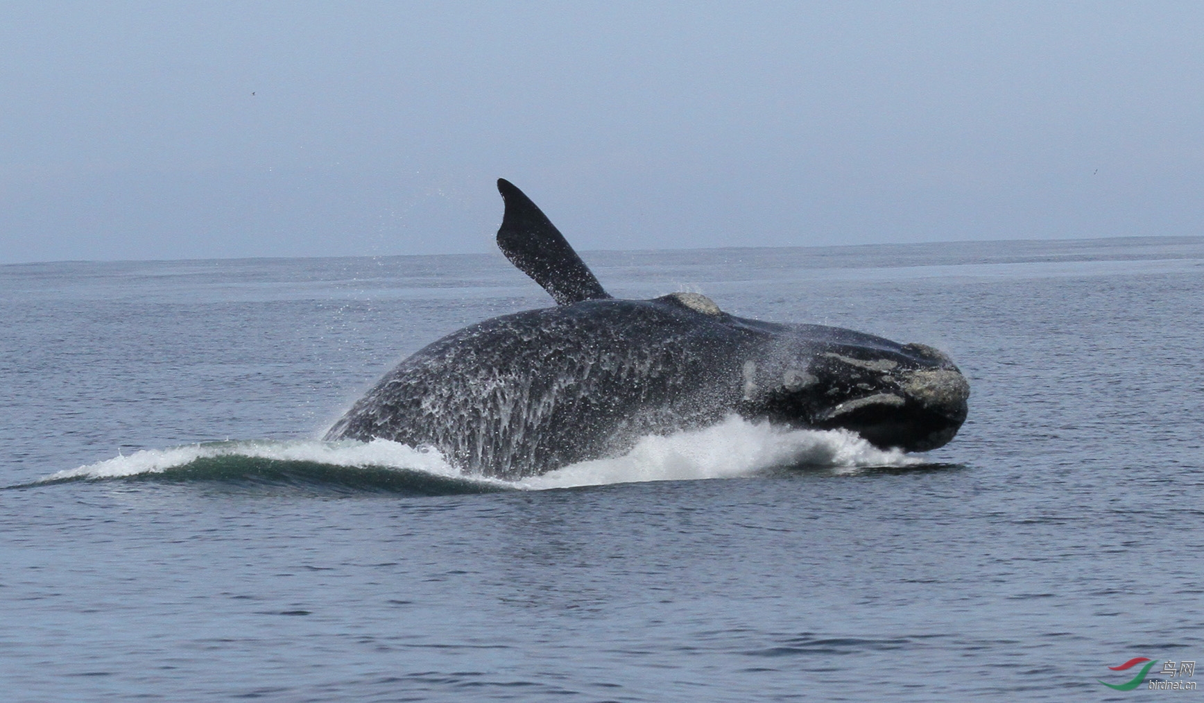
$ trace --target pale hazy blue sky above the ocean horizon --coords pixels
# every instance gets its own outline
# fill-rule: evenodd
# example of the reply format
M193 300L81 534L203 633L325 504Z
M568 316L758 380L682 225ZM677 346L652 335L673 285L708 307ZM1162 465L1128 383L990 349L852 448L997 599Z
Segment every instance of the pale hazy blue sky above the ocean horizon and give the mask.
M0 264L1204 235L1198 2L6 2Z

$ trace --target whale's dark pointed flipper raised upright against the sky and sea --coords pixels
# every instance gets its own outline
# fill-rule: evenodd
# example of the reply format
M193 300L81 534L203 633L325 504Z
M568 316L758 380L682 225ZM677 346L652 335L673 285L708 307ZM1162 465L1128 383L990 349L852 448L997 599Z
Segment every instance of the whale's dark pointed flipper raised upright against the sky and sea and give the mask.
M610 297L530 197L504 178L497 179L497 190L506 201L497 246L510 264L542 285L556 305Z

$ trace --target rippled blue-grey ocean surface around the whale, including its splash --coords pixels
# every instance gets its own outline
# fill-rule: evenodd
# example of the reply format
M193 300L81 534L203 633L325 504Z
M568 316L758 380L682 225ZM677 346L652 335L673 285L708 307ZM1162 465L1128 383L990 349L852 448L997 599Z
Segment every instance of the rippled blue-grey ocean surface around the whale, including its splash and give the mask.
M583 258L938 347L969 419L926 455L730 419L488 480L319 437L550 305L500 254L0 266L0 697L1199 696L1146 681L1204 658L1204 238Z

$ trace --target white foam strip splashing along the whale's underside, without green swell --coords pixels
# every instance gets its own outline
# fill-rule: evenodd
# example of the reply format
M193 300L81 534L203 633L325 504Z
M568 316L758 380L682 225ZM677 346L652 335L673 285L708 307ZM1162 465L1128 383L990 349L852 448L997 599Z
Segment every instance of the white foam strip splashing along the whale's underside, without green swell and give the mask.
M692 480L750 475L777 466L820 466L856 469L872 466L911 466L914 456L881 450L844 430L790 430L737 417L703 430L641 439L615 459L583 461L539 477L502 482L465 475L432 449L397 442L241 441L144 449L79 468L60 471L42 480L102 479L163 473L200 459L247 456L276 461L306 461L327 466L418 471L441 478L479 480L517 489L543 490L650 480Z

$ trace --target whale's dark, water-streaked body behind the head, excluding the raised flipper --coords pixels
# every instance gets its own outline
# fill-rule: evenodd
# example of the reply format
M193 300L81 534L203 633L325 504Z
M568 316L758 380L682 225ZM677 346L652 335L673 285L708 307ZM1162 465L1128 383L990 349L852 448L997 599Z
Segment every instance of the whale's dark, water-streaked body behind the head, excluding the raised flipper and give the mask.
M597 300L465 327L402 361L326 439L385 438L515 478L718 421L748 332L657 301ZM728 368L728 366L733 366Z

